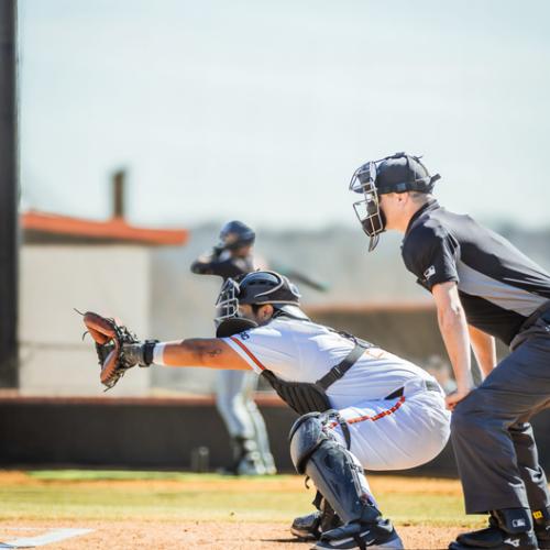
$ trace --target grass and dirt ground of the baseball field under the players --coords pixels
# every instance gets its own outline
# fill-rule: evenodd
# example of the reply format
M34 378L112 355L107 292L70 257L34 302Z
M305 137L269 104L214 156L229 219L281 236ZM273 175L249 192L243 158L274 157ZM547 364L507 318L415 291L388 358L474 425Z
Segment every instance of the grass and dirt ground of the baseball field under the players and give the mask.
M370 482L408 549L447 548L458 532L479 525L463 515L455 480ZM44 548L296 550L311 544L294 539L288 527L312 509L312 496L301 477L290 475L0 471L0 542L91 529Z

